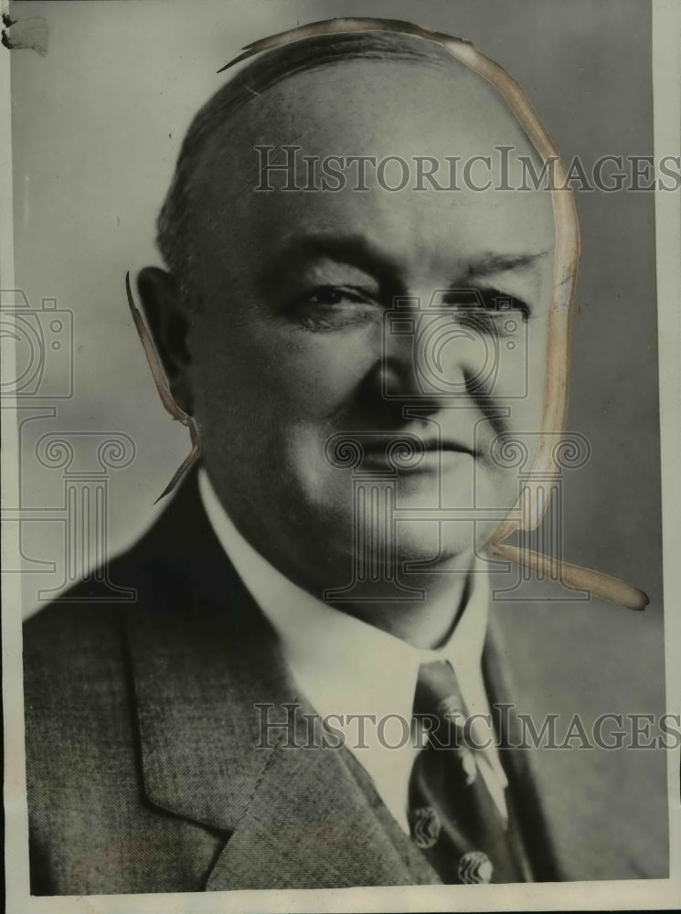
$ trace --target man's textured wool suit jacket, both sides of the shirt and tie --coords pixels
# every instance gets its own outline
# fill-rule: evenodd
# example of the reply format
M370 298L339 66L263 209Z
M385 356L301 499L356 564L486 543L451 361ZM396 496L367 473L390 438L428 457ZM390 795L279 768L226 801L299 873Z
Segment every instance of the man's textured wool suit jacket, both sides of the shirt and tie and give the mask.
M262 739L258 704L271 718L285 702L312 708L196 478L110 572L137 590L133 604L102 601L93 575L25 626L33 894L440 881L348 749L290 748L286 730ZM603 711L660 710L662 642L644 614L529 602L496 615L486 684L516 706L502 743L519 741L516 711L558 713L565 728L577 711L588 726ZM298 739L309 745L306 730ZM537 880L667 875L663 752L501 755Z

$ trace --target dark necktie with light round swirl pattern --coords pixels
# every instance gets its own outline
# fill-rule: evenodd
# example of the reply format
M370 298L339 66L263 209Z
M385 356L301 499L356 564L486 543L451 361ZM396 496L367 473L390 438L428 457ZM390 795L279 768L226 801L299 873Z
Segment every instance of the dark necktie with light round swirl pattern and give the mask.
M410 777L414 843L447 884L531 881L518 836L478 770L451 664L421 665L414 716L430 731Z

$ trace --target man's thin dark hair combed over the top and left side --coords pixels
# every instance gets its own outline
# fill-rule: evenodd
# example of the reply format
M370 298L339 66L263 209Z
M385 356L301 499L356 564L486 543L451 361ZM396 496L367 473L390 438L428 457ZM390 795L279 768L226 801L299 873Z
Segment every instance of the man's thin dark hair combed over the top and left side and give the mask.
M240 108L282 80L305 70L356 58L412 60L435 69L463 66L442 44L426 37L398 31L357 31L316 35L282 44L241 69L206 102L189 125L156 223L158 248L186 304L197 296L198 252L194 229L200 214L193 207L193 191L197 163L207 140Z

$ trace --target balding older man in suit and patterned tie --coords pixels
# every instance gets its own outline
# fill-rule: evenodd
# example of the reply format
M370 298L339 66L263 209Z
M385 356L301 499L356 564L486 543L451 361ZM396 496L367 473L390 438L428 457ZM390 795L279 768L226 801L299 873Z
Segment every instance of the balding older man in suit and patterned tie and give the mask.
M552 151L506 80L333 22L190 127L139 291L201 461L112 569L133 607L84 582L27 623L34 893L664 875L660 753L518 749L504 712L631 709L584 694L583 610L485 640L577 253L569 193L499 189Z

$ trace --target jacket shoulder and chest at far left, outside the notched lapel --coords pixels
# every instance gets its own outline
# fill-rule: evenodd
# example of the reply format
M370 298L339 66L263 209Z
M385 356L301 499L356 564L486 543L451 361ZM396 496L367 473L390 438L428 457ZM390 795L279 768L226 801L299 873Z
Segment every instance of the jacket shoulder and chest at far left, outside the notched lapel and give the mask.
M55 602L25 623L34 895L197 891L221 840L145 798L122 607Z

